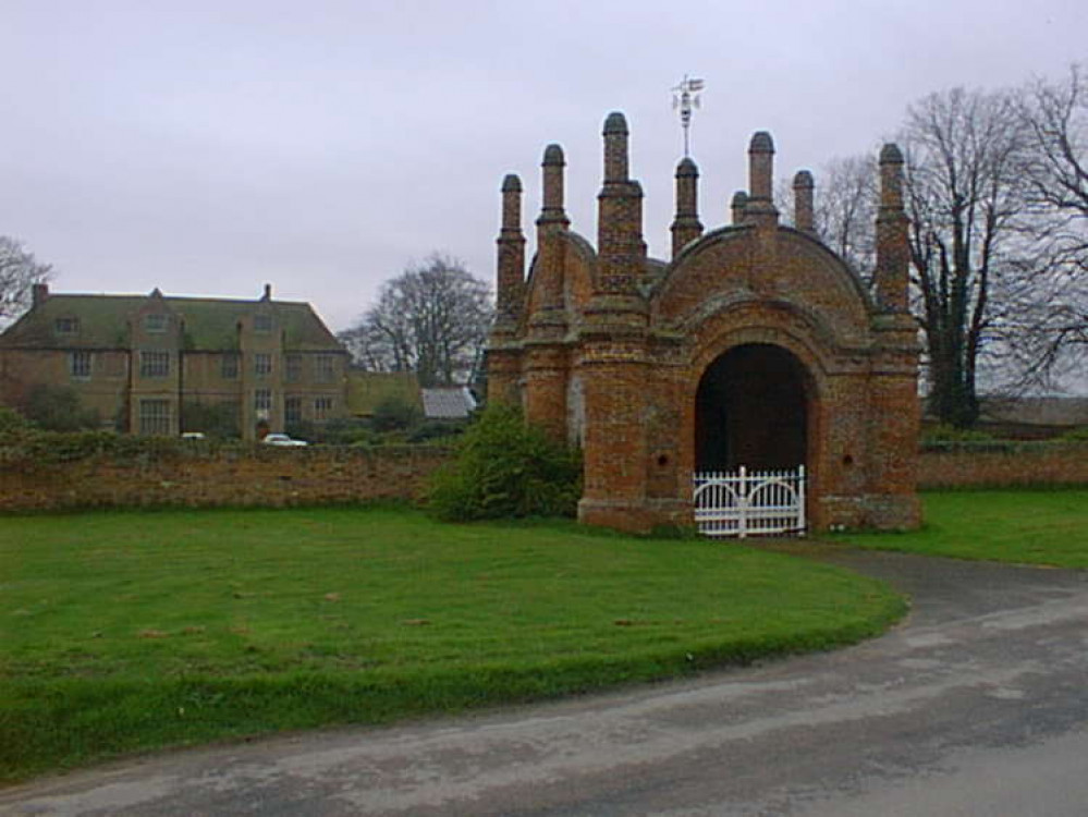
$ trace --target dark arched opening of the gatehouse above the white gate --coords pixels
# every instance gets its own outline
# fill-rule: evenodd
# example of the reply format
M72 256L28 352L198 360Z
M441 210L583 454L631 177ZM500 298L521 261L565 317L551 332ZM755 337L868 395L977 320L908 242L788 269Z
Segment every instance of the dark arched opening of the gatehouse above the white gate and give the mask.
M710 364L696 393L696 471L804 465L805 382L800 361L770 344L735 346Z

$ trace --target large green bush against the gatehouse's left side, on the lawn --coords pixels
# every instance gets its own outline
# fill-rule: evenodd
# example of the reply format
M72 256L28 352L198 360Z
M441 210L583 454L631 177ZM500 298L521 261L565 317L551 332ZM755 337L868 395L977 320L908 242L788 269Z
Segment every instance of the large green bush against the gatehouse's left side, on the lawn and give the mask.
M580 496L579 453L500 404L484 410L436 472L428 504L448 522L574 516Z

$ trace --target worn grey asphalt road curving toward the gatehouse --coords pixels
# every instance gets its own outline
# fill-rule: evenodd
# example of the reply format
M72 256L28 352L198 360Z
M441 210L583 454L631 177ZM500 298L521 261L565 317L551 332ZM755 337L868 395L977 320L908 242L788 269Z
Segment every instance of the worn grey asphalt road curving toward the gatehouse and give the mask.
M882 638L610 695L170 753L5 815L1088 815L1088 573L829 558L914 598Z

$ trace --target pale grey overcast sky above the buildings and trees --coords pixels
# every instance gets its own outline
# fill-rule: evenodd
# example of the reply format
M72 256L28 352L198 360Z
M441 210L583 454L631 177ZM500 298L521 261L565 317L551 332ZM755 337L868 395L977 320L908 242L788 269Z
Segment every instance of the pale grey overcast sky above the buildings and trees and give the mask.
M499 185L522 175L531 243L550 142L592 240L611 110L665 255L685 73L707 83L693 157L714 227L754 131L778 175L818 171L926 94L1088 62L1085 0L0 0L0 234L54 265L54 291L270 282L334 330L432 252L491 281Z

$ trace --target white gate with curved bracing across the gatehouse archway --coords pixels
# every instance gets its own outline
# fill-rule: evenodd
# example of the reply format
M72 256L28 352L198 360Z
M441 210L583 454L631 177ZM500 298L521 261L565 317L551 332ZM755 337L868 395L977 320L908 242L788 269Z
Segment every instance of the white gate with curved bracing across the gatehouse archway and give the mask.
M805 466L696 474L695 525L706 536L804 536Z

